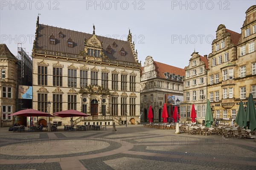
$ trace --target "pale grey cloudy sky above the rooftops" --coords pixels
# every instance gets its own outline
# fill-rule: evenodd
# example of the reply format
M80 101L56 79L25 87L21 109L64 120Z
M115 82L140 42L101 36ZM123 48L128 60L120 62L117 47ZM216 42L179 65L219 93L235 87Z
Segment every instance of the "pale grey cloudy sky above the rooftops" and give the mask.
M31 55L36 20L74 31L127 40L129 29L138 59L179 68L191 54L211 53L218 26L241 33L245 11L255 0L0 0L0 43L17 56ZM18 44L21 43L21 44Z

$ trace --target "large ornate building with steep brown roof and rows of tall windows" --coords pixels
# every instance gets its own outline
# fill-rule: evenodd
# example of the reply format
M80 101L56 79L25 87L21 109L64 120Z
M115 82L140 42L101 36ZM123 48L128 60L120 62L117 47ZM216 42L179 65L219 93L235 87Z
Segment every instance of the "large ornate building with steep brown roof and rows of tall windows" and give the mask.
M75 109L104 124L140 121L140 66L128 40L36 24L33 56L33 108L50 113ZM103 119L103 120L101 120ZM69 118L51 122L70 125ZM74 119L73 119L74 120ZM119 121L120 120L120 121ZM121 121L122 120L122 121ZM75 124L88 123L79 118ZM129 123L129 122L128 122ZM91 123L92 124L92 123Z

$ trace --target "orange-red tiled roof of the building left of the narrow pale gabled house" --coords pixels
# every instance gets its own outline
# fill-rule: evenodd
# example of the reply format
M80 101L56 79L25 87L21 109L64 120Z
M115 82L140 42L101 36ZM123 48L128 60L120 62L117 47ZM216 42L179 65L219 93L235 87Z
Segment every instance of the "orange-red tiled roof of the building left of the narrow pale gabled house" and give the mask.
M157 71L157 77L166 78L164 73L169 72L170 74L176 74L180 76L185 76L185 70L183 68L177 68L172 65L163 64L161 62L154 61L154 65Z

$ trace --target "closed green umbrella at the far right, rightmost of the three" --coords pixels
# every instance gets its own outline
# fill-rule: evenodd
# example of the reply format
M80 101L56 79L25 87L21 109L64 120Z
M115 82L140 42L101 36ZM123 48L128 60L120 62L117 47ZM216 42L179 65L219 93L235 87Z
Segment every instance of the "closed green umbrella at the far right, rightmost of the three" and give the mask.
M253 102L253 95L251 93L249 94L244 121L244 126L249 125L247 127L248 129L254 130L256 128L256 109Z

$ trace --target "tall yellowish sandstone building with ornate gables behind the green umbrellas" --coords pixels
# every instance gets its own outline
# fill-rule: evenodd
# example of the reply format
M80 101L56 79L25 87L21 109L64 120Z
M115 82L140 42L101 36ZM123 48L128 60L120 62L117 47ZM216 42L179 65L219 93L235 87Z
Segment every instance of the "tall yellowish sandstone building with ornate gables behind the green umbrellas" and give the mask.
M240 100L245 104L249 93L256 99L256 6L245 14L241 34L218 26L208 57L207 99L220 122L235 119Z

